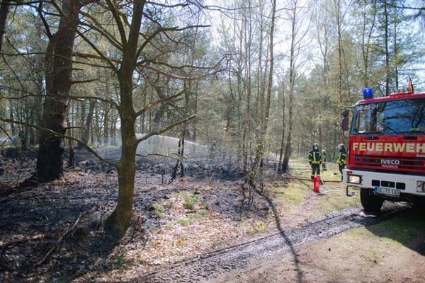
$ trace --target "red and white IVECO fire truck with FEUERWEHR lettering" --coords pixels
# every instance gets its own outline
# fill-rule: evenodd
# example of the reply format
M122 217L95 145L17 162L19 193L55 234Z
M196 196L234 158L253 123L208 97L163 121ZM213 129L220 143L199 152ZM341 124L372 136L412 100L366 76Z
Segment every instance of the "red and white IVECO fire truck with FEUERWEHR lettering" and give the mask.
M348 111L343 111L348 130ZM360 188L361 204L379 211L384 200L425 201L425 93L373 98L365 88L356 103L348 137L343 183Z

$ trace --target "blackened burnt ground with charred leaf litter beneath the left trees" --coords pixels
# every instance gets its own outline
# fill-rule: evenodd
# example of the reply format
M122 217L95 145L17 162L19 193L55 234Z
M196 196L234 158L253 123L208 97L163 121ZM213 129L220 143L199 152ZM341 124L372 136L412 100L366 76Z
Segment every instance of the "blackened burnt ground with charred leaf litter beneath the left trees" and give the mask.
M239 202L240 185L234 181L243 174L233 168L189 164L186 177L170 184L174 162L167 165L142 159L138 161L132 226L117 240L109 238L101 226L118 197L113 168L83 152L77 155L77 166L67 168L61 180L17 190L11 187L33 172L35 156L27 154L30 159L24 160L15 151L6 154L0 163L4 181L0 191L0 278L6 282L68 280L87 270L114 269L111 258L119 253L120 246L143 244L149 230L163 225L152 204L179 192L196 195L208 209L234 218L249 214L262 217L266 213L255 209L261 203L246 209ZM230 190L214 190L212 182L232 185Z

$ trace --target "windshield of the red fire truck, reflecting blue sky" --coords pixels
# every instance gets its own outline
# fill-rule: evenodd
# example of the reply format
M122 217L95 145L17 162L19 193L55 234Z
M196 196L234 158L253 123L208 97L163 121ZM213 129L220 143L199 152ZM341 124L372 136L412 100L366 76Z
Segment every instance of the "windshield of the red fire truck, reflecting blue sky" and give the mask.
M356 106L351 134L425 133L425 98L410 98Z

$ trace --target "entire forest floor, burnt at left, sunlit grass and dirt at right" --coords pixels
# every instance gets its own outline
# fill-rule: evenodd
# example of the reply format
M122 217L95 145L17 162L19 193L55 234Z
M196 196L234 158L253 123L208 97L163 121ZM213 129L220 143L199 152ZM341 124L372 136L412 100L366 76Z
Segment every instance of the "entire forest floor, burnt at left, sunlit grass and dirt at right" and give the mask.
M232 162L189 163L170 183L164 164L140 161L117 240L101 226L118 196L113 168L81 154L61 180L13 189L31 157L0 158L0 282L425 282L424 209L364 214L341 183L316 194L297 180L310 175L304 160L290 178L268 172L249 207ZM322 178L339 180L328 167Z

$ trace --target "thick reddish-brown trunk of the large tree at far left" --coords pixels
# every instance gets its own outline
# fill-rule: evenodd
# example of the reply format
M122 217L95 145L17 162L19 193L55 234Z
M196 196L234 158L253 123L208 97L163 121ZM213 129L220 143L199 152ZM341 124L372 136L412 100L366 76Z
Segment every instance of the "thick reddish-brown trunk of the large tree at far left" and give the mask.
M61 18L57 33L50 38L46 55L46 98L42 116L42 127L65 134L64 119L72 85L72 50L79 21L80 2L62 2ZM65 18L66 17L66 18ZM63 161L62 138L52 132L42 131L38 150L35 178L38 182L55 180L62 176Z

